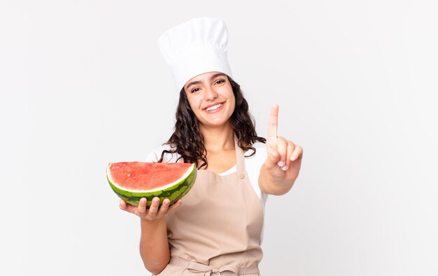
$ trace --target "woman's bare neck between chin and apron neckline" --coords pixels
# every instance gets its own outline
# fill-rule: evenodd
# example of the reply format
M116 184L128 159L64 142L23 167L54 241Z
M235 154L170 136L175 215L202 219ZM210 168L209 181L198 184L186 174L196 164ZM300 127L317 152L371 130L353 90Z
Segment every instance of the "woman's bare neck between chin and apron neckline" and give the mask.
M199 126L199 131L204 136L207 152L234 150L234 130L231 123L215 128Z

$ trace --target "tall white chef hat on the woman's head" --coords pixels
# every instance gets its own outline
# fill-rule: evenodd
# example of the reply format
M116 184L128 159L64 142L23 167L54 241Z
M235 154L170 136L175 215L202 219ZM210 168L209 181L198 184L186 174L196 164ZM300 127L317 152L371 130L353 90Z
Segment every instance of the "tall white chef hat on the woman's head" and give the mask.
M157 43L172 69L178 92L202 73L217 71L232 78L227 58L227 26L220 19L189 20L164 32Z

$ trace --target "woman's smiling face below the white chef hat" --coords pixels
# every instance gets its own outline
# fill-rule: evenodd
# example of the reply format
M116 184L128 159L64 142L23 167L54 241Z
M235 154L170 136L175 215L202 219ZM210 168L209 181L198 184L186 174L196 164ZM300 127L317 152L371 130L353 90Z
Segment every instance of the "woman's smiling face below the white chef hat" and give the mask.
M197 75L184 85L184 91L200 127L231 126L229 118L236 100L227 75L219 72Z

